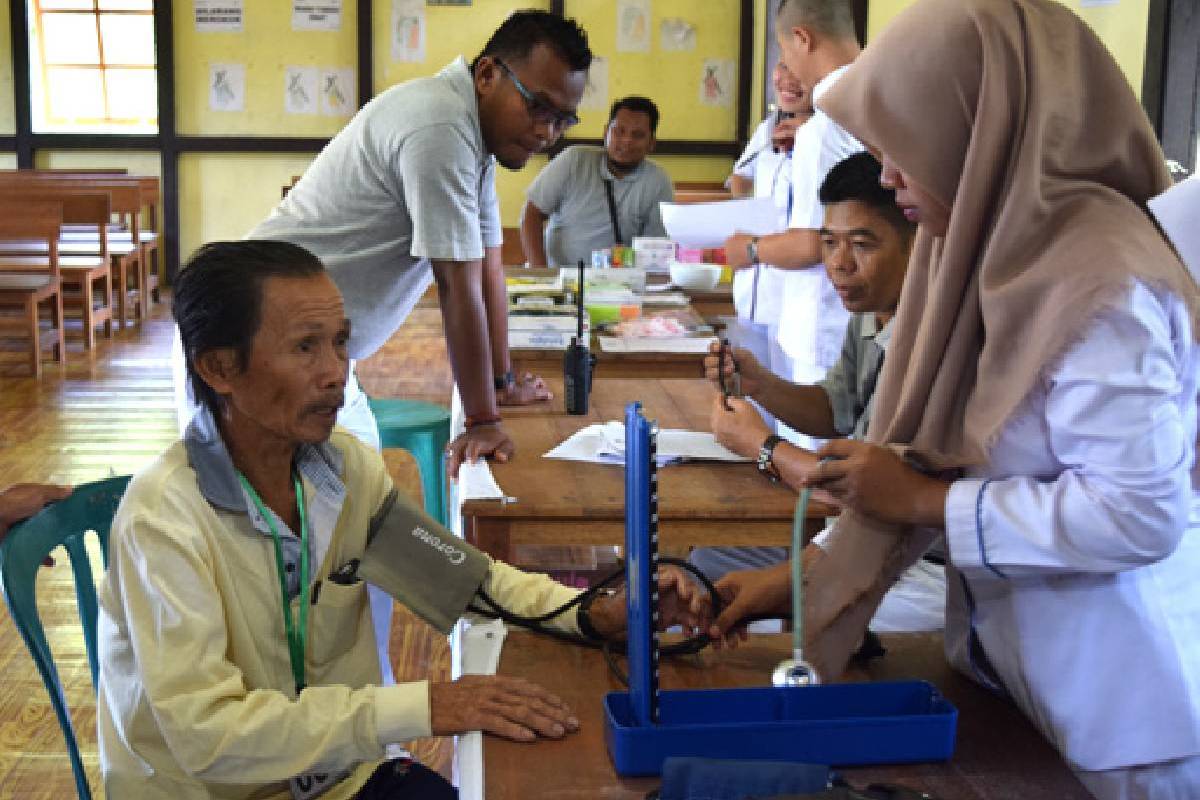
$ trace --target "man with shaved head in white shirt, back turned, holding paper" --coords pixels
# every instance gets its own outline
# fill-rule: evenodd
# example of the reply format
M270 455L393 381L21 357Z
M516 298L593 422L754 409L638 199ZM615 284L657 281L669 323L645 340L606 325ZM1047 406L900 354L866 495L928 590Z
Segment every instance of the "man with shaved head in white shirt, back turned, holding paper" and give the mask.
M814 103L860 52L848 0L782 0L775 36L781 61ZM725 243L734 270L770 264L799 271L788 281L778 332L796 383L817 383L838 360L847 312L821 269L817 194L834 164L862 150L862 143L817 109L796 131L787 229L768 236L738 234Z

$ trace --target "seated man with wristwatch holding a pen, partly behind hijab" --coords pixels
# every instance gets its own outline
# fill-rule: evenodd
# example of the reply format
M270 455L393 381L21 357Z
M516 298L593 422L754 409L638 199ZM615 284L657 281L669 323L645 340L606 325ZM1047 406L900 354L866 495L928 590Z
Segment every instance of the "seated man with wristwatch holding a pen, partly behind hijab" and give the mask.
M821 185L824 224L820 229L824 269L842 305L851 312L841 357L824 380L793 384L764 368L749 351L734 353L742 389L768 413L812 437L862 438L871 421L875 385L892 336L892 319L908 267L916 225L895 205L895 192L880 185L880 162L859 152L839 162ZM785 308L785 313L787 309ZM704 360L716 379L719 356ZM724 365L726 374L732 365ZM713 405L716 439L730 450L757 459L770 480L799 491L817 456L774 435L758 411L742 399ZM760 569L788 558L784 547L709 547L691 560L714 581L732 570ZM943 567L918 561L888 593L871 627L880 631L940 630L944 608Z

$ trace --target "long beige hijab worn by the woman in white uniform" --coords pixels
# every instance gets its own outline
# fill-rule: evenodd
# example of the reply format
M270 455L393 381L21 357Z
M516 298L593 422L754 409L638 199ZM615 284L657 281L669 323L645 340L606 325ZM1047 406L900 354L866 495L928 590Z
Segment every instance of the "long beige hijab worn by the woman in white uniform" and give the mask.
M820 102L944 206L920 229L868 439L986 458L1045 371L1130 279L1198 290L1151 223L1163 154L1111 55L1052 0L920 0ZM1195 330L1200 330L1196 327ZM810 572L810 658L840 674L930 536L844 515Z

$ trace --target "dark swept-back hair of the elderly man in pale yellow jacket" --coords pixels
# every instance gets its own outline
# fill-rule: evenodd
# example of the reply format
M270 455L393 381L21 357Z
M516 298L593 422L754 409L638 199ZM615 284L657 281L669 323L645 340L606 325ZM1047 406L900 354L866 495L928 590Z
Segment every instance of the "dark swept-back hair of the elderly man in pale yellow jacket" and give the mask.
M175 277L172 313L184 342L192 395L212 413L221 397L204 383L196 361L210 350L232 348L245 369L263 323L263 281L320 275L325 265L304 247L286 241L217 241L192 253Z

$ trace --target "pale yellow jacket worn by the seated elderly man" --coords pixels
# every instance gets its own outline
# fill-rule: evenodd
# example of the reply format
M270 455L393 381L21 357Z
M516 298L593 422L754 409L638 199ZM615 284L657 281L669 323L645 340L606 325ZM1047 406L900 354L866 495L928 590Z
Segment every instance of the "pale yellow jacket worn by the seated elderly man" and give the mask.
M353 769L324 795L337 800L370 777L385 744L430 735L426 681L377 686L365 584L324 579L362 554L391 480L378 453L341 429L325 447L340 455L346 493L313 570L322 581L299 697L270 536L206 499L182 441L130 483L100 591L97 723L109 798L287 798L290 776ZM316 492L306 476L305 495ZM576 594L500 563L485 589L522 614ZM575 615L558 627L577 631Z

